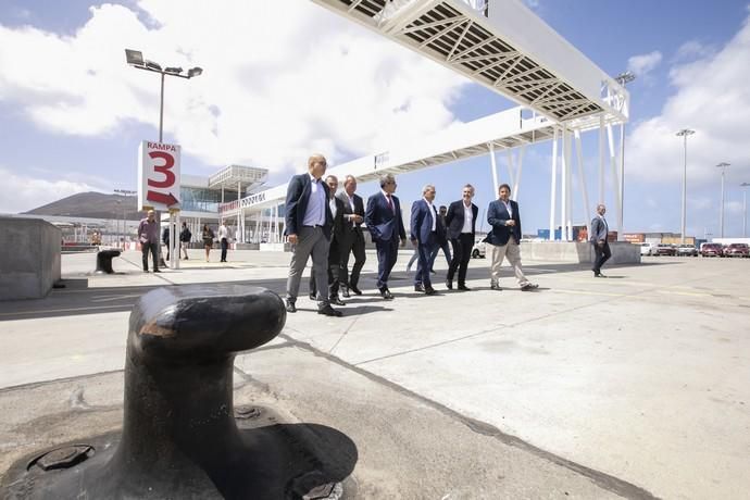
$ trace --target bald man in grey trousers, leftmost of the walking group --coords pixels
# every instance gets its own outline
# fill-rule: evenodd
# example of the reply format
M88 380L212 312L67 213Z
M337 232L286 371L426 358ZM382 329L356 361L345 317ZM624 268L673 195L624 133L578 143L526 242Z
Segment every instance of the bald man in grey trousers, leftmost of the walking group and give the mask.
M300 279L311 255L317 283L328 282L326 267L334 215L328 205L328 186L322 180L326 166L325 157L313 154L308 160L308 173L295 175L287 188L285 234L293 246L286 300L286 309L290 313L297 312ZM341 311L330 307L328 293L321 290L317 291L317 313L341 315Z

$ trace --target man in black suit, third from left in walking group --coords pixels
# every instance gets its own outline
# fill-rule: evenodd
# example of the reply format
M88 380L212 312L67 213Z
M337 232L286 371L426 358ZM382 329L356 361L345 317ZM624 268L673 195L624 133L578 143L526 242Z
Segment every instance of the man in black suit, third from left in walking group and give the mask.
M362 295L359 288L360 272L366 260L364 253L364 235L362 234L362 222L364 221L364 202L362 197L355 195L357 178L347 175L343 182L343 191L336 197L343 202L343 236L341 241L341 270L339 271L339 282L341 283L341 295L349 297L349 290ZM349 254L354 254L354 265L349 274Z

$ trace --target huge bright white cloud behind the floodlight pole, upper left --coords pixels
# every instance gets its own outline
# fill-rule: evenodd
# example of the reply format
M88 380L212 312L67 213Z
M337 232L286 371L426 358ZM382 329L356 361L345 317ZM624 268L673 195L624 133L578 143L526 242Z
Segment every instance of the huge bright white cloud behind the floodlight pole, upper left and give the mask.
M165 83L165 135L186 152L215 165L288 168L311 151L335 163L445 128L467 83L305 0L138 8L91 8L70 37L0 26L0 101L60 134L155 127L159 77L126 66L123 49L134 48L164 65L204 68Z

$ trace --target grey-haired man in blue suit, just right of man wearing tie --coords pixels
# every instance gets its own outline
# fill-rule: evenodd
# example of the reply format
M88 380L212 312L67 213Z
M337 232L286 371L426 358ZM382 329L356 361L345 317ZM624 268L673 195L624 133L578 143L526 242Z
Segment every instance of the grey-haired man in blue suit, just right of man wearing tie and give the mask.
M435 288L429 279L429 270L433 268L433 250L439 247L443 235L442 225L438 222L438 213L433 201L435 200L435 186L427 184L422 188L422 199L412 204L411 240L416 247L418 261L414 275L414 291L423 291L428 296L435 295ZM437 254L437 253L435 253Z

